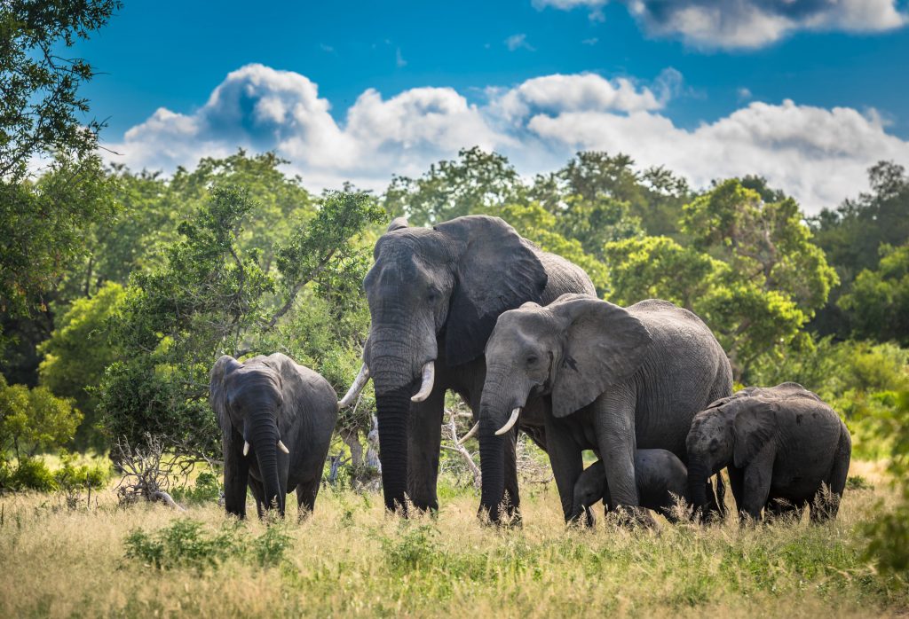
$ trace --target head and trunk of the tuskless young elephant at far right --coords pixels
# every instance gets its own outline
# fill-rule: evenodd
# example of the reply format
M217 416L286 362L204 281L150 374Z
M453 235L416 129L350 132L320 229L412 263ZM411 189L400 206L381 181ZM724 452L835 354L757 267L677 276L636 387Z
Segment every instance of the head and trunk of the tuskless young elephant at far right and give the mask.
M688 452L688 490L696 509L707 514L719 504L722 516L723 478L720 471L729 465L745 467L774 437L775 405L751 397L755 388L722 398L694 416L685 440ZM717 503L706 492L709 477L717 474Z

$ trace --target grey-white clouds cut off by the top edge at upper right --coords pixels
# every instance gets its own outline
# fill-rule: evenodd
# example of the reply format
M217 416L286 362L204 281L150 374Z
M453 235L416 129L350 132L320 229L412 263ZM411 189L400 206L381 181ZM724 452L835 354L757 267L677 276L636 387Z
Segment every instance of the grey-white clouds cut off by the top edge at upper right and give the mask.
M898 0L622 0L644 30L697 48L753 49L798 31L885 32L909 23ZM599 11L605 0L532 0Z

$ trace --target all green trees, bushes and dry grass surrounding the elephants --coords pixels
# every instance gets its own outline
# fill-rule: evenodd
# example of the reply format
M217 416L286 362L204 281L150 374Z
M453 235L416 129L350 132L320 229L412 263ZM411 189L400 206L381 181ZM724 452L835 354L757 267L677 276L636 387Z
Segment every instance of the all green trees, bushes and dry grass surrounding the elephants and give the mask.
M129 170L102 162L102 126L82 117L91 65L51 53L118 6L0 7L0 615L909 610L904 168L878 163L870 192L814 217L757 176L695 189L620 153L578 152L526 179L465 149L381 193L313 193L269 152ZM524 526L480 526L475 443L458 451L451 434L440 513L389 517L367 389L341 411L312 518L227 519L214 360L281 351L343 393L387 222L477 213L582 266L606 300L694 310L738 383L794 380L829 402L854 437L840 518L566 529L545 457L527 445ZM153 486L185 513L136 505Z

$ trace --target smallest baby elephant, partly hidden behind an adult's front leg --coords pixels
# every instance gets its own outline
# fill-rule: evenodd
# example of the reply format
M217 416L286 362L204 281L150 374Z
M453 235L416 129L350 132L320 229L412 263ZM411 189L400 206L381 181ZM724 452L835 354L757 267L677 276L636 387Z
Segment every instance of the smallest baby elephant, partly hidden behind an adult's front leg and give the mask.
M675 523L678 520L674 512L677 499L691 502L688 493L688 469L674 453L665 449L637 450L634 455L634 483L641 506L662 514L669 522ZM705 491L708 497L713 496L713 486L710 486L709 481ZM584 469L584 473L574 484L572 517L580 517L601 499L608 512L614 504L612 497L609 496L609 487L606 486L603 460L597 460ZM719 511L715 503L712 503L711 507Z

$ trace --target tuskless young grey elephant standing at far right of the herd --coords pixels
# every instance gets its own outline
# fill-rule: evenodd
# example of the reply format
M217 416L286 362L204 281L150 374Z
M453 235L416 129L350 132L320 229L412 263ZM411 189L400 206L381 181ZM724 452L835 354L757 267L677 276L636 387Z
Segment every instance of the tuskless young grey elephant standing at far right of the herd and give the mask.
M694 505L703 504L695 489L704 478L728 467L739 514L754 520L764 509L799 515L806 504L814 521L835 518L852 456L843 421L796 383L749 387L712 403L695 416L687 447ZM822 483L831 500L817 496Z

